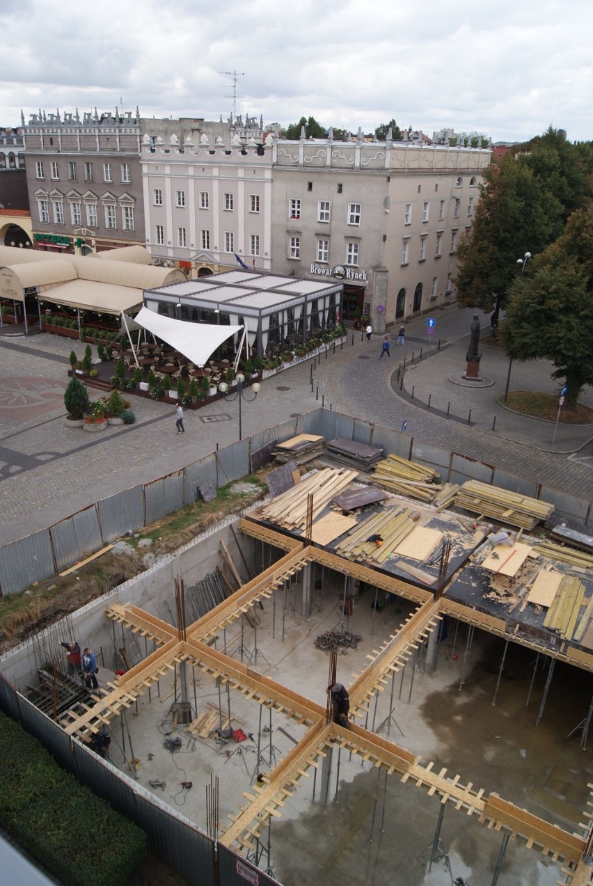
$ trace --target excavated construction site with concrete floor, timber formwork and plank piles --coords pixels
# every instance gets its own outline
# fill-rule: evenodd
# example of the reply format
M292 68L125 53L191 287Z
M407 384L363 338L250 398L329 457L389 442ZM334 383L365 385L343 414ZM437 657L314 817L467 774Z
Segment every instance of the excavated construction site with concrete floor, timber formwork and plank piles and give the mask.
M263 504L4 656L4 680L68 741L105 730L98 765L232 851L224 882L591 882L590 540L351 440L269 455Z

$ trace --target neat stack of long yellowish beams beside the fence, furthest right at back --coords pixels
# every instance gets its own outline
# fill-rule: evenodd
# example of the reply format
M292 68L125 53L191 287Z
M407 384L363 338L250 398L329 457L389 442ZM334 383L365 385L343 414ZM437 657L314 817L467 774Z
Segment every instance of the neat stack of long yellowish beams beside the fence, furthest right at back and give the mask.
M547 501L511 493L479 480L464 483L456 494L455 503L459 508L523 529L533 529L535 524L547 520L554 510L554 505Z

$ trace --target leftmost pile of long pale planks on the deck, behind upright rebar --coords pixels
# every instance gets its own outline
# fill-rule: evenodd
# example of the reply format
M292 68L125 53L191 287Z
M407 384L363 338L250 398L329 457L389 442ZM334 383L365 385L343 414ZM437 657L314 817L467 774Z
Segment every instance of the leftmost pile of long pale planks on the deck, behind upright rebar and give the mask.
M264 505L256 513L261 520L269 520L278 526L291 531L302 529L307 524L308 494L313 494L313 519L319 517L334 495L343 492L356 476L355 470L325 468L317 470L310 477L301 480L292 489L269 504Z

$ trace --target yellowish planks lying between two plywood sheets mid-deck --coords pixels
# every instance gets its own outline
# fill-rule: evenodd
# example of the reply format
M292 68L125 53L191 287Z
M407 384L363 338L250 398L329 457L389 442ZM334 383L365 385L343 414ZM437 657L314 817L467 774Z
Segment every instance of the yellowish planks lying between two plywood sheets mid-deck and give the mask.
M357 563L363 563L365 560L384 563L412 531L417 518L417 513L409 508L386 508L379 514L369 517L355 532L351 532L346 539L339 541L336 552L347 560L355 560ZM375 541L368 540L372 536L379 536L382 539L380 547Z

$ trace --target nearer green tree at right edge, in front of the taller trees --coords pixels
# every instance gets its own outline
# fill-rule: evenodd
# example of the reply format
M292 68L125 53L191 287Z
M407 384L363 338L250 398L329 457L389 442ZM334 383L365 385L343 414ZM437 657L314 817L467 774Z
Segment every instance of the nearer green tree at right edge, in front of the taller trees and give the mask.
M566 232L511 286L503 344L513 360L544 358L566 381L566 404L593 384L593 208L571 215Z

